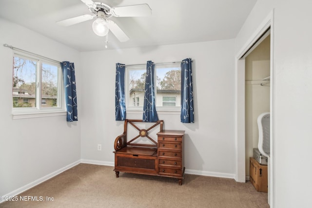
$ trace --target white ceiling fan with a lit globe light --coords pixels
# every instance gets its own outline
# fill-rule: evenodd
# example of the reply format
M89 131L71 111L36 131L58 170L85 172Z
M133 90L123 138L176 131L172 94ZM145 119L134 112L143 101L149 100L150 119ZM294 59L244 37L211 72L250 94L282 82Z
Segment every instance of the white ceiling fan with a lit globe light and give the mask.
M111 17L144 17L150 16L152 14L152 10L148 4L137 4L112 8L102 2L93 2L92 0L81 1L89 7L89 10L92 14L61 20L58 21L57 24L61 26L70 26L97 17L97 19L92 24L93 31L98 36L106 36L106 42L109 31L111 31L120 42L129 40L129 37L114 21L107 19Z

